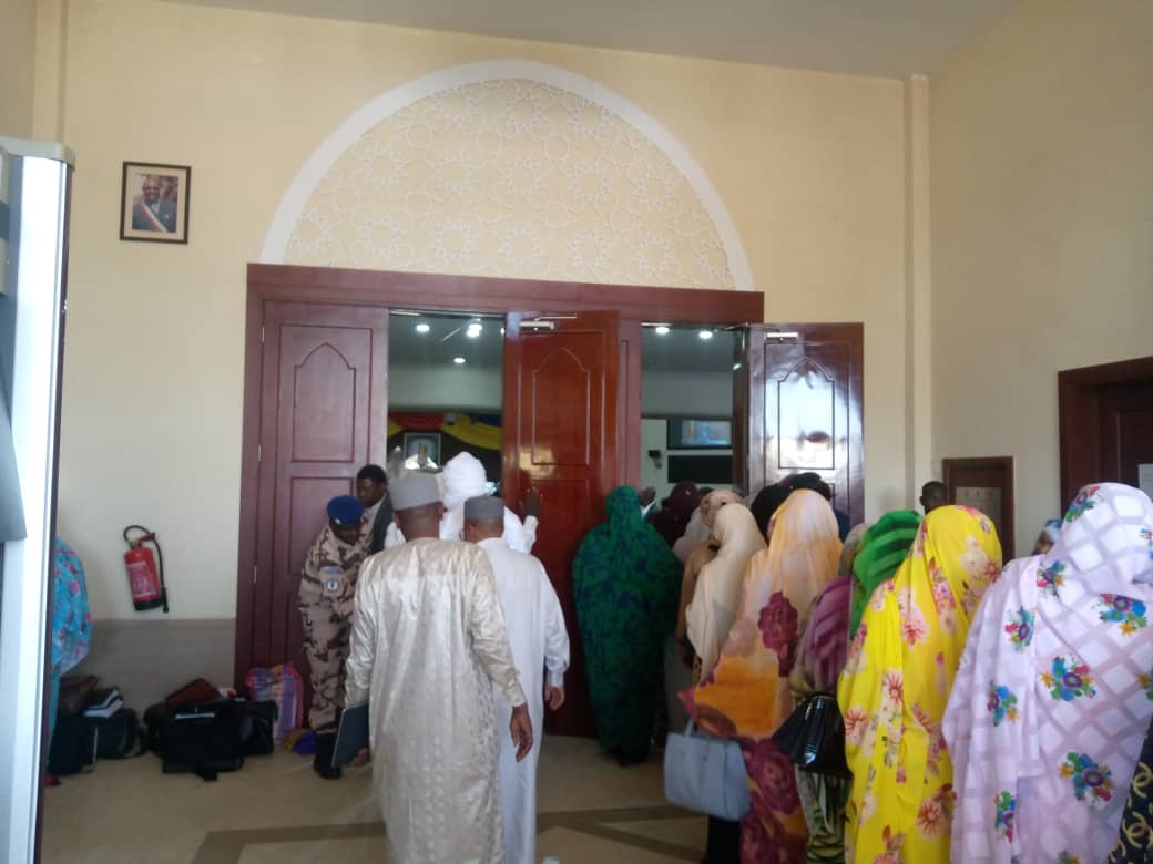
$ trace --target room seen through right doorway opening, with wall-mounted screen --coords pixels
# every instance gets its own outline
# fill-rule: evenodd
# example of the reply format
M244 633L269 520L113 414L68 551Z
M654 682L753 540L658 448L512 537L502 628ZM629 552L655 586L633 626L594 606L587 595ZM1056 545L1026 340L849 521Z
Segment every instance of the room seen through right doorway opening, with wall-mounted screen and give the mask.
M648 324L641 334L641 486L732 488L738 333Z

